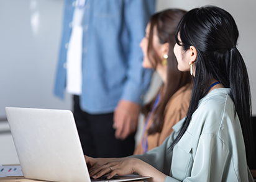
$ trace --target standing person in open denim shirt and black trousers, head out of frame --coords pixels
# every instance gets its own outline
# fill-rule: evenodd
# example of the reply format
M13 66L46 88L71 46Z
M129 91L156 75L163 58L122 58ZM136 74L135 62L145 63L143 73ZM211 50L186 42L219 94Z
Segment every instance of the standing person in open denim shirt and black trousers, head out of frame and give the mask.
M81 144L92 157L134 152L152 70L139 47L155 0L66 0L54 93L74 95Z

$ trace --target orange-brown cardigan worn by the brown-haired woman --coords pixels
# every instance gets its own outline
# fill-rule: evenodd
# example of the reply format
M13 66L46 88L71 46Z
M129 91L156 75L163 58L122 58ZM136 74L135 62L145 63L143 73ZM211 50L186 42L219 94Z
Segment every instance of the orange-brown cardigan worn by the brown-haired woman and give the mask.
M151 134L148 136L148 150L158 147L170 136L173 131L172 127L186 116L188 106L190 105L190 98L192 92L192 84L187 84L181 87L169 100L165 108L165 119L163 121L163 129L159 133ZM147 130L153 123L152 117L150 118ZM142 137L146 134L142 134ZM143 154L142 139L134 150L134 155Z

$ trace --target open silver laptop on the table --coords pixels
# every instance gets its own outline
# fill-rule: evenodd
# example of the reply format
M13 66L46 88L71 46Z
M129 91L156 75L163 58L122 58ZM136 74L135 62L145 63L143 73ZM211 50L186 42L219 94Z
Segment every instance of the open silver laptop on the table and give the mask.
M134 181L147 176L91 180L73 113L69 110L6 107L25 178L46 181Z

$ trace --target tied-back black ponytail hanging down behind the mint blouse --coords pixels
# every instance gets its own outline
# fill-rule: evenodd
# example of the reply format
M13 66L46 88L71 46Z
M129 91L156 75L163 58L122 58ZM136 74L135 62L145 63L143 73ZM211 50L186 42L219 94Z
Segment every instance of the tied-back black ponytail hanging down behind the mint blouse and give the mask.
M252 157L252 110L250 83L244 59L237 50L231 49L229 66L229 83L231 92L229 95L235 104L235 111L240 119L241 128L244 135L245 148L247 149L247 161ZM249 147L250 146L250 147Z

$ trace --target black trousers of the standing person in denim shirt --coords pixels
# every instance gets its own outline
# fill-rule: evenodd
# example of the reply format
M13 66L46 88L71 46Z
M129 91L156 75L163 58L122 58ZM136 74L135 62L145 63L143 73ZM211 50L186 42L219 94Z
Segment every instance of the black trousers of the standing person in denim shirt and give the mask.
M90 115L80 108L80 98L74 95L74 117L83 152L89 157L126 157L132 155L135 134L125 140L116 139L113 125L114 113Z

